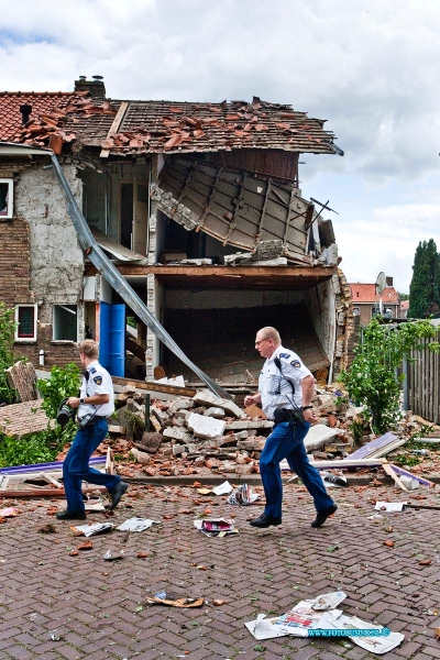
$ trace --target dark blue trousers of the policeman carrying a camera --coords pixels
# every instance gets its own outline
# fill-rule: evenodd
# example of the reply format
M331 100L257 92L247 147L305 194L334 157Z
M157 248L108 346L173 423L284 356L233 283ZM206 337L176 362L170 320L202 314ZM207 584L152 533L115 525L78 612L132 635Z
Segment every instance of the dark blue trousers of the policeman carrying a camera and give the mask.
M78 429L72 447L63 463L63 481L66 491L67 510L80 513L85 510L81 482L106 486L110 492L121 481L116 474L105 474L89 468L89 460L94 451L106 438L108 431L107 419L97 419L85 429Z

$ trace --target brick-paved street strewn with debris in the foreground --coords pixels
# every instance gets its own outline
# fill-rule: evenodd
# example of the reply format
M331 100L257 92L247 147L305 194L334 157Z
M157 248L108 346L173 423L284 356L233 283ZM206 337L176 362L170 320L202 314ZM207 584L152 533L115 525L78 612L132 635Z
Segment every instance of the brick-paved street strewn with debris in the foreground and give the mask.
M438 504L436 492L417 491L410 501ZM283 525L270 530L246 521L261 506L230 506L194 487L132 486L129 493L113 522L138 515L163 524L128 539L120 531L92 537L92 549L76 557L69 552L84 537L47 515L62 508L61 501L15 503L21 513L0 525L0 660L377 658L348 640L258 642L244 626L258 613L283 614L304 597L339 588L348 594L341 605L346 614L405 634L387 660L440 658L433 634L440 625L440 512L407 509L372 519L373 499L408 499L402 491L338 490L339 512L312 529L309 495L289 485ZM427 498L416 499L420 494ZM211 539L198 532L193 520L206 509L234 514L240 535ZM89 515L89 521L102 520L102 514ZM48 522L56 531L40 531ZM389 539L393 548L384 546ZM108 549L121 548L123 560L103 561ZM148 556L140 559L139 552ZM432 563L420 564L424 559ZM147 594L162 590L204 596L206 604L145 604ZM216 598L227 603L213 606Z

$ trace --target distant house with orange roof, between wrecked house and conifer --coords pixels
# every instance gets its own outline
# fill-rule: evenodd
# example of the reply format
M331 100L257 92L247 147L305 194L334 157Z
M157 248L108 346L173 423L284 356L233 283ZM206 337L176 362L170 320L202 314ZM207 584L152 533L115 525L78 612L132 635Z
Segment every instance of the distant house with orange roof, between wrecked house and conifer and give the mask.
M391 280L392 278L387 278ZM361 317L361 326L367 326L376 314L380 314L382 298L382 314L385 317L400 318L400 298L394 286L386 286L382 296L376 293L375 284L350 283L353 302L353 315Z

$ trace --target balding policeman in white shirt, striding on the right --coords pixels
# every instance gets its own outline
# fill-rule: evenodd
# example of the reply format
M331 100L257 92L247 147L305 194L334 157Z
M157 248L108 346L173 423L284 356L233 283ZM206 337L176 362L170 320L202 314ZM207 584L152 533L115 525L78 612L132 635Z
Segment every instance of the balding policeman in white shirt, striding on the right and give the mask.
M317 517L311 527L321 527L338 506L327 494L319 472L310 465L304 446L312 420L310 402L315 392L314 376L296 353L282 346L275 328L258 330L255 348L266 362L260 374L258 392L254 396L246 396L244 405L262 404L267 418L275 420L275 426L260 458L266 506L260 518L250 524L253 527L282 524L279 462L287 459L290 469L314 497Z

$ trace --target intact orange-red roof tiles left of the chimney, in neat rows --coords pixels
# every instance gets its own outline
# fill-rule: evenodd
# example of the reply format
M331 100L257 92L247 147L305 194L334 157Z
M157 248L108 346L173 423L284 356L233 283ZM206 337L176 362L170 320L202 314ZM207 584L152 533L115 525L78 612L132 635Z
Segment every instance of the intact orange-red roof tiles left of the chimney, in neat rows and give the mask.
M31 122L34 118L51 118L54 109L64 110L78 95L64 91L0 91L0 140L14 141L13 138L22 128L20 106L32 106ZM57 118L54 118L57 121Z

